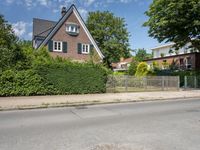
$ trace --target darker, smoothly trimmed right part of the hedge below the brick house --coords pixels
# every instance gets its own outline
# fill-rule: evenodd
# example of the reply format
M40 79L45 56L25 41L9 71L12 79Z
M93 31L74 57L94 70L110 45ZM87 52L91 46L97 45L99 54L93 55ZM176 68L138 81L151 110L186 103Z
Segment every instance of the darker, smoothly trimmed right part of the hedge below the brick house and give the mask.
M103 93L106 91L106 71L91 64L64 63L39 65L36 70L53 85L59 94Z

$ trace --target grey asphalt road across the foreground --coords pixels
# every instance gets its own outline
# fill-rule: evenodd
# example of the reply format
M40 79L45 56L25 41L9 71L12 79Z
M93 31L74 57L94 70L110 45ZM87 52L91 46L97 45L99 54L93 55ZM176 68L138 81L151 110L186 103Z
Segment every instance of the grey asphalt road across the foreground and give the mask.
M0 112L0 150L200 150L200 100Z

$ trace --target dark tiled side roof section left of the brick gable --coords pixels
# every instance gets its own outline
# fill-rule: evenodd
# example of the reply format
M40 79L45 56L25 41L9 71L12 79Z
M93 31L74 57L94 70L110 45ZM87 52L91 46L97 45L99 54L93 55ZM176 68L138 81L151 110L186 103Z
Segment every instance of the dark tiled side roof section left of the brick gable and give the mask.
M33 38L35 36L46 37L57 22L33 18Z

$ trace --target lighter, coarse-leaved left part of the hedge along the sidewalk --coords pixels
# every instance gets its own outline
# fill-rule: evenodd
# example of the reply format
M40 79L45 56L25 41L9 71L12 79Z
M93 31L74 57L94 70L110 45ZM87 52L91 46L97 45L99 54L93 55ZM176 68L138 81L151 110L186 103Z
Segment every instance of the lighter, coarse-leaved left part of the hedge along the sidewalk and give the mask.
M56 94L56 90L33 70L6 70L0 75L0 96L44 94Z

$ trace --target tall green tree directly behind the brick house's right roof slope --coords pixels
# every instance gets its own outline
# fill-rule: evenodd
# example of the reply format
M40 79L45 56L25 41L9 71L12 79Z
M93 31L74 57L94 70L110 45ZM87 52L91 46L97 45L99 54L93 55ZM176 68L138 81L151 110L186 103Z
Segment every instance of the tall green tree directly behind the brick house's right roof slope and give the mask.
M105 55L104 62L110 66L120 57L130 57L129 33L124 18L113 13L90 12L86 21L87 27Z

